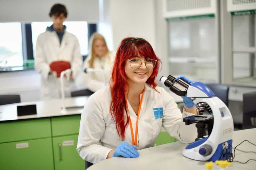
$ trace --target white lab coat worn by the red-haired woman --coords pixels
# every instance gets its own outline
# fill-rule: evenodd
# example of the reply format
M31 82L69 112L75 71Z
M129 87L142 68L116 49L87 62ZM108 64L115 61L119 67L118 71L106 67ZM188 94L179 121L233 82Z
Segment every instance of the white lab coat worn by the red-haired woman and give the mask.
M181 113L174 98L164 88L157 86L156 89L160 94L145 84L140 118L138 120L137 149L140 150L155 146L155 141L161 132L162 126L171 136L178 140L184 143L193 142L197 137L195 124L186 126L182 121L182 117L193 114L185 110ZM81 115L77 151L81 158L88 162L97 163L106 159L108 153L112 149L116 149L123 142L120 141L115 123L110 115L110 102L110 88L106 86L91 95L84 105ZM154 108L162 108L162 118L155 118ZM135 133L137 115L129 102L128 109ZM129 125L125 132L124 141L132 144Z

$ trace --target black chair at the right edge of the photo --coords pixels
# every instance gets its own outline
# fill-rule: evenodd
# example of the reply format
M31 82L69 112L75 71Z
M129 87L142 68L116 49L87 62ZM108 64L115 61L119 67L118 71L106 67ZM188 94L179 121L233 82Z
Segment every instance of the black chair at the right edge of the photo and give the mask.
M256 92L243 94L243 129L256 128L251 118L256 117Z

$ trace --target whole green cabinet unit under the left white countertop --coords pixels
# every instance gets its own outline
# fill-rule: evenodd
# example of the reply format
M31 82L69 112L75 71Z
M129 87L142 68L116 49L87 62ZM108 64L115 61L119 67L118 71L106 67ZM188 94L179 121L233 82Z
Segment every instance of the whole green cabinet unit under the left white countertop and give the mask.
M81 115L0 123L0 169L85 169L76 147Z

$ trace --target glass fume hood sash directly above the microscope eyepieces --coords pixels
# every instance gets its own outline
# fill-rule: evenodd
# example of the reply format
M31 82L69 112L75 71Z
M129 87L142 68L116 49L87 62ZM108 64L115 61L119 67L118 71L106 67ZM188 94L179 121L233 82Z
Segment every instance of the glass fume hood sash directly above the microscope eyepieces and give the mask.
M169 70L193 81L218 82L215 18L169 19Z

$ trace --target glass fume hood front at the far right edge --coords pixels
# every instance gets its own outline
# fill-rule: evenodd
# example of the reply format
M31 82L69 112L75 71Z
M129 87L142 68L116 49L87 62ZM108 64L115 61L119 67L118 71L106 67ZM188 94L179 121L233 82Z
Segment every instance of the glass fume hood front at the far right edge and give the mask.
M232 77L234 80L256 77L255 15L232 16L232 29Z

